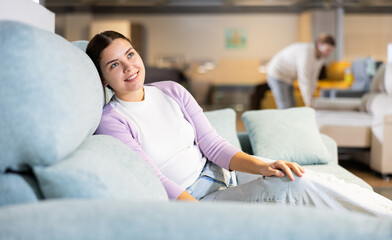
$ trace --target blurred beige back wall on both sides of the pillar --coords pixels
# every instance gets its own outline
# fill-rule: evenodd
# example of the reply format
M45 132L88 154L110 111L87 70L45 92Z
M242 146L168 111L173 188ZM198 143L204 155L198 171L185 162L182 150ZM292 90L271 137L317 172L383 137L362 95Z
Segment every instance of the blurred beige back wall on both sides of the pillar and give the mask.
M300 14L293 13L63 14L56 16L56 31L70 41L87 39L91 21L108 19L127 19L145 27L147 54L144 60L149 64L154 64L160 55L181 55L187 62L198 59L218 61L222 58L259 58L266 61L283 47L300 39L301 35L298 27ZM346 13L343 23L342 60L372 56L386 61L387 43L392 42L392 14ZM310 27L316 25L314 22ZM228 28L246 30L248 42L245 49L225 48L225 30Z

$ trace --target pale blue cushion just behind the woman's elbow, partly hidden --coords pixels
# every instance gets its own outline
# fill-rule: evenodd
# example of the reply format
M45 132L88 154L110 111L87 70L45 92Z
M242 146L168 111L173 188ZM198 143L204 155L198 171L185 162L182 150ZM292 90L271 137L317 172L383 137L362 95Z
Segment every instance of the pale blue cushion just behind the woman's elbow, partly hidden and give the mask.
M233 109L207 111L205 115L220 136L229 141L234 147L241 149L236 130L236 113Z

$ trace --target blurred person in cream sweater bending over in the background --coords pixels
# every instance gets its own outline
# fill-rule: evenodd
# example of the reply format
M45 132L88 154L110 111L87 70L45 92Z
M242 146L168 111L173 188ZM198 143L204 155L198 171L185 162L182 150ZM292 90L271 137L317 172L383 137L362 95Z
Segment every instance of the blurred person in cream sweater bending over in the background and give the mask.
M295 107L295 80L305 106L312 106L320 69L334 47L334 38L323 34L314 43L293 43L271 59L267 81L279 109Z

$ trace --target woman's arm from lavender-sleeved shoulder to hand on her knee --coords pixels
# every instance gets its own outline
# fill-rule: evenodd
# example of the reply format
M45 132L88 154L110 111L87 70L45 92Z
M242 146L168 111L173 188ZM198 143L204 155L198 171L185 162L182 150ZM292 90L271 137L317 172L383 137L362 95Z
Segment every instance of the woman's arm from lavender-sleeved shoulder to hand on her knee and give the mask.
M235 148L217 134L204 115L202 108L185 88L179 84L174 84L171 90L173 91L171 95L180 101L180 106L184 107L184 110L192 119L197 142L208 160L226 169L264 176L283 177L285 172L292 180L294 180L292 170L298 176L305 173L304 169L297 163L282 160L266 163Z

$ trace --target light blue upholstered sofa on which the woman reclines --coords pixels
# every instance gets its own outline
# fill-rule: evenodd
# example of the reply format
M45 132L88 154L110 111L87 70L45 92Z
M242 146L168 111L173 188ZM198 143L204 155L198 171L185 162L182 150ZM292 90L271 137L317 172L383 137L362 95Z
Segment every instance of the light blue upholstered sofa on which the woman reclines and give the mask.
M170 202L135 153L92 135L103 91L83 51L53 33L1 21L0 58L0 239L392 238L392 220L356 213ZM247 135L236 136L232 110L207 116L251 151ZM334 161L312 167L364 184Z

